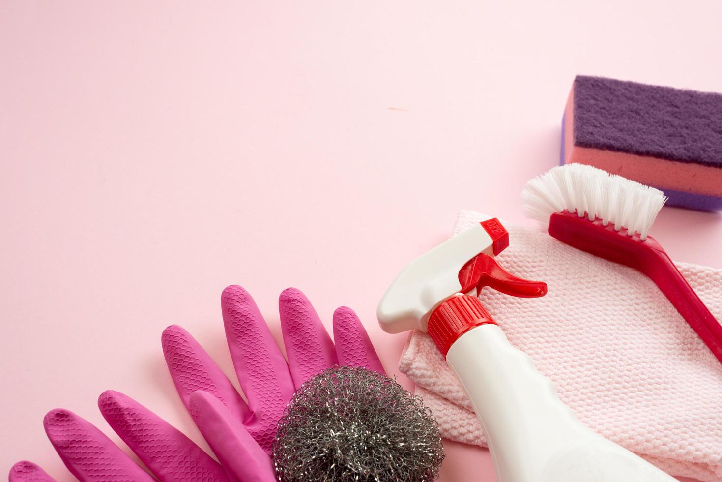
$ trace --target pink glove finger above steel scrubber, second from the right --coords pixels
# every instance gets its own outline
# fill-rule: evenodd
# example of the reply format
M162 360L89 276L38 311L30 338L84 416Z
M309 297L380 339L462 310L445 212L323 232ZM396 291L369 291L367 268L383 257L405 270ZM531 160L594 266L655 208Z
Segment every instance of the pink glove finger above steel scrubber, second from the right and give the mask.
M288 288L278 301L288 365L296 388L310 376L339 363L336 348L303 293Z

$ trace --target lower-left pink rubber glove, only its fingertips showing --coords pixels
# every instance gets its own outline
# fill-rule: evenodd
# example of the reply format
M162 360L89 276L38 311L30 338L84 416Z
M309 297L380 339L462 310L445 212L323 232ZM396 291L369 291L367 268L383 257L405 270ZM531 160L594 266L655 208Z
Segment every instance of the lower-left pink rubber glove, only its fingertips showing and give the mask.
M108 424L162 482L230 482L225 470L180 431L135 400L108 390L98 398ZM69 410L56 408L43 421L45 433L70 472L84 482L152 482L103 432ZM32 462L18 462L10 482L52 482Z

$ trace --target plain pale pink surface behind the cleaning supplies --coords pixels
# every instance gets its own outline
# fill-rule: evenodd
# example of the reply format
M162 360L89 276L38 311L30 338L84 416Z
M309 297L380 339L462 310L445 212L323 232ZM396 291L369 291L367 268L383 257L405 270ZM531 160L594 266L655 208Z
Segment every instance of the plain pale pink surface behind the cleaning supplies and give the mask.
M459 208L526 222L575 74L722 91L722 3L549 3L1 1L0 472L71 480L43 415L111 434L107 388L201 441L160 332L232 373L230 283L276 335L287 286L326 322L352 306L398 372L378 298ZM653 234L722 267L719 215L665 208ZM493 480L447 447L442 481Z

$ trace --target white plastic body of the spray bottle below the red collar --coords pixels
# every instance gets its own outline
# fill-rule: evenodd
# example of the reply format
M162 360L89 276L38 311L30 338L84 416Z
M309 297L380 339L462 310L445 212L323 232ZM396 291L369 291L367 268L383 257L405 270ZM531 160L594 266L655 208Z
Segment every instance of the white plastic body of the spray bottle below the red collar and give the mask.
M446 361L474 404L498 482L676 480L580 423L497 325L461 335Z

